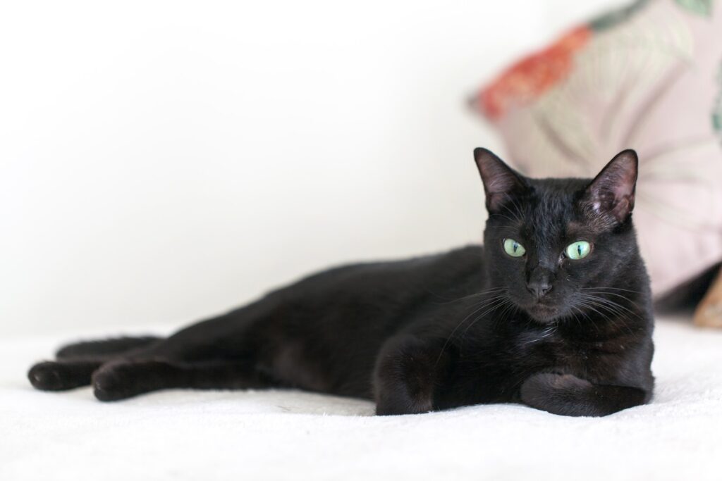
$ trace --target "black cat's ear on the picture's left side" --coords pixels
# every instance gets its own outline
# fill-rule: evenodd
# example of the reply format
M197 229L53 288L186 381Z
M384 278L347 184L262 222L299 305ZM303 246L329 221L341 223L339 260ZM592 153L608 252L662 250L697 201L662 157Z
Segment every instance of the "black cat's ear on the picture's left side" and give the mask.
M526 191L523 177L492 151L478 147L474 149L474 160L477 161L479 174L484 182L487 211L490 213L500 211L506 201Z

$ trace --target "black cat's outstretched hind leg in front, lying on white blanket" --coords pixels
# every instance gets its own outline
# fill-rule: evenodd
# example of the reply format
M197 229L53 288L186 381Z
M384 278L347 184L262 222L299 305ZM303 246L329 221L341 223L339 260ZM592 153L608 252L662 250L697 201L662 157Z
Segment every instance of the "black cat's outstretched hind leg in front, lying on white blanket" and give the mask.
M123 400L160 389L253 389L279 383L248 361L183 363L165 358L119 359L92 376L95 397Z

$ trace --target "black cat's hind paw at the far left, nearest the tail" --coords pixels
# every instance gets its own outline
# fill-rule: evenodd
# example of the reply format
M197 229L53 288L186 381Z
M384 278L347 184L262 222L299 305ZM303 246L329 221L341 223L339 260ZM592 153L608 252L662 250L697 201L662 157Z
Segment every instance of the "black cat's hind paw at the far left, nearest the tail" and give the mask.
M27 379L36 389L66 391L90 385L90 378L103 363L101 359L84 358L70 361L45 361L30 368Z

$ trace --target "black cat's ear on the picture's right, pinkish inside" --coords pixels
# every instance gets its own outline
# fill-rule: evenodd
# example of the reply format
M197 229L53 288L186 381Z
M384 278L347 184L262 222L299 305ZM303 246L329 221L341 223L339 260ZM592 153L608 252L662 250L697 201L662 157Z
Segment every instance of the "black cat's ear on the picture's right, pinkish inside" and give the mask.
M624 222L634 208L638 164L632 149L619 152L586 187L583 207L595 215Z

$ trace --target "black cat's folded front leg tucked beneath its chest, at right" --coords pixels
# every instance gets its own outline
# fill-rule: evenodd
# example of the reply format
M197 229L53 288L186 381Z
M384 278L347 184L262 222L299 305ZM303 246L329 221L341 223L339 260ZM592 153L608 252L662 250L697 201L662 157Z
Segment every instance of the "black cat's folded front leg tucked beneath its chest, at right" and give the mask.
M521 385L521 402L565 416L606 416L648 397L643 389L592 384L571 374L534 374Z

